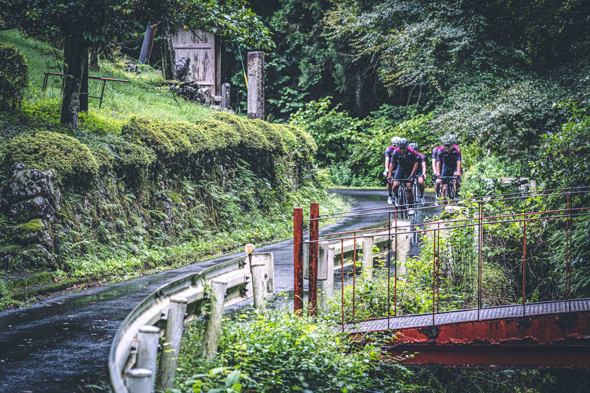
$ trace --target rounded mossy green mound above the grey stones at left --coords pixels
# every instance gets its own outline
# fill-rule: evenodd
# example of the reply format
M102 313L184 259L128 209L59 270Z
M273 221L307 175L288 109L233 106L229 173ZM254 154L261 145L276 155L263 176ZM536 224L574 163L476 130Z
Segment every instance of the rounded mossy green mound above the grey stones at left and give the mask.
M51 169L57 175L58 184L81 182L97 173L98 165L88 146L64 134L53 131L21 134L6 147L8 164L24 163L27 168L42 171Z

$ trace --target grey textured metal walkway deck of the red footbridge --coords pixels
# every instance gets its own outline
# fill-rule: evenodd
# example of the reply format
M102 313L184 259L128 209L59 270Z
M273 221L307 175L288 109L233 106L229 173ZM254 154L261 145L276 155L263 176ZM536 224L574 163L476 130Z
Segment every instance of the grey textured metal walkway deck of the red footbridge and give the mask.
M526 316L548 315L568 311L570 311L568 300L530 303L525 305ZM571 312L585 311L590 311L590 299L571 300ZM486 307L480 309L479 321L518 318L520 316L523 316L522 305ZM434 325L447 325L477 320L477 309L445 311L434 314ZM421 328L424 326L432 326L432 313L405 315L395 318L392 316L389 318L389 322L388 318L381 318L371 319L369 321L363 321L359 323L346 323L344 325L344 331L348 333L362 333L371 331Z

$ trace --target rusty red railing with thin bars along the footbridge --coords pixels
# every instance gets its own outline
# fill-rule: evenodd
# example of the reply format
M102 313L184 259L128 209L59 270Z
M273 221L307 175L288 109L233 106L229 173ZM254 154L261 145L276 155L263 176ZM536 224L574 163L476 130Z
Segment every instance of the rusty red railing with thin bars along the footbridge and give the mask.
M590 215L590 207L574 207L574 203L582 203L581 197L585 197L590 191L590 187L571 187L564 189L550 189L550 190L535 190L528 192L519 192L512 194L495 194L490 196L471 197L457 200L451 206L460 206L463 208L463 213L466 217L455 218L452 214L444 214L442 220L427 223L414 223L414 224L397 224L397 217L399 210L392 208L391 206L379 207L375 209L364 209L364 210L352 210L345 213L331 213L331 214L319 214L319 204L312 203L310 206L310 218L303 219L303 209L296 207L294 209L294 312L297 314L303 313L303 250L304 245L309 245L309 290L308 290L308 313L309 315L317 315L317 258L318 258L318 243L329 237L330 242L340 243L340 284L342 286L340 290L340 313L342 330L345 329L345 324L349 322L358 322L358 318L355 319L355 300L358 298L356 293L356 249L358 246L357 240L362 240L365 237L373 237L373 233L388 232L388 242L386 247L386 262L384 268L387 269L387 310L386 315L381 315L378 318L387 318L387 328L389 328L390 318L400 316L401 312L398 310L399 299L398 299L398 235L407 235L406 229L411 230L412 236L419 237L421 239L430 239L428 242L423 241L422 245L428 245L432 247L431 251L431 268L432 268L432 325L435 324L435 315L440 311L440 282L441 278L448 279L446 277L448 272L442 272L441 259L448 259L448 255L444 255L446 250L445 245L453 244L457 239L454 239L456 232L463 231L468 232L467 239L470 241L463 242L462 246L469 245L467 249L455 249L455 252L466 255L470 260L469 266L466 268L477 269L477 278L475 280L469 280L469 282L461 283L461 285L472 285L474 288L470 288L470 293L476 293L475 299L477 308L477 319L474 321L480 321L480 311L483 308L483 249L484 249L484 232L486 230L494 230L500 233L502 226L518 226L519 230L522 227L522 258L519 258L519 264L521 265L522 272L520 273L520 294L522 298L522 313L526 314L527 304L527 293L526 293L526 270L527 270L527 236L532 236L530 233L527 234L527 225L530 227L533 223L548 223L550 221L559 220L563 222L565 229L565 247L566 257L563 261L564 269L563 275L565 279L565 299L568 300L568 312L571 312L571 300L572 300L572 223L578 217ZM560 199L562 204L561 209L540 209L533 212L518 211L506 212L507 214L499 214L497 210L500 209L502 204L509 204L518 202L518 200L536 199L537 205L547 199ZM432 207L438 207L434 202L425 204L426 206L417 207L415 210L432 209ZM553 204L555 206L555 204ZM510 206L509 206L510 207ZM387 217L388 223L386 226L372 228L372 229L353 229L345 232L336 233L324 233L319 235L319 222L321 220L344 218L344 217L358 217L358 216L383 216ZM304 222L309 222L309 239L303 239L303 226ZM530 230L530 229L529 229ZM359 234L360 232L360 234ZM494 232L494 233L496 233ZM514 232L514 231L513 231ZM533 234L536 236L537 234ZM465 234L461 235L465 236ZM498 235L499 236L499 235ZM500 236L501 237L501 236ZM352 251L352 299L350 299L350 305L348 305L350 315L346 313L345 307L345 252L344 242L352 240L353 251ZM463 239L464 240L464 239ZM392 247L392 242L394 247ZM431 242L431 244L430 244ZM442 244L442 246L441 246ZM512 250L514 253L514 250ZM393 254L393 257L392 257ZM537 256L536 256L537 257ZM471 260L471 259L473 260ZM476 260L475 260L476 259ZM391 262L394 262L393 266L393 277L391 277L392 269ZM444 262L444 261L443 261ZM515 262L514 260L512 262ZM516 277L515 277L516 278ZM391 280L393 279L393 280ZM391 282L393 281L393 282ZM535 300L533 294L529 293L530 300ZM393 299L391 297L393 296ZM384 300L384 299L380 299ZM393 301L392 301L393 300ZM538 299L536 299L538 300ZM555 300L555 299L553 299ZM530 303L530 302L529 302ZM391 305L393 304L393 307ZM447 310L448 311L448 310ZM372 318L375 319L375 318Z

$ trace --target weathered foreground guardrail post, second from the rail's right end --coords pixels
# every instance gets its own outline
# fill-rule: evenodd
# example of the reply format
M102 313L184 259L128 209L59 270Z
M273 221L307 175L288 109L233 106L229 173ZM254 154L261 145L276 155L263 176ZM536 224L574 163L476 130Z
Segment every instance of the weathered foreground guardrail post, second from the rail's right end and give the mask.
M205 334L203 335L203 357L207 361L215 358L215 354L217 354L226 289L227 282L211 281L211 306L209 306L209 315L207 322L205 322Z

